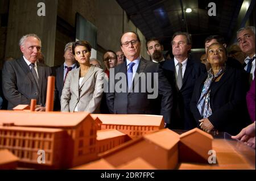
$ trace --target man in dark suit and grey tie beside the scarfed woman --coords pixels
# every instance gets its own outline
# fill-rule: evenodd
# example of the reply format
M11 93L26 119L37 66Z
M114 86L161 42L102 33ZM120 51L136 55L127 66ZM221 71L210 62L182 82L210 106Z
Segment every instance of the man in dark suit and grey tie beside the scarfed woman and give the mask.
M190 102L196 79L206 72L200 61L188 58L191 50L191 35L175 32L172 36L172 54L174 58L163 63L163 69L174 92L174 109L172 121L168 128L189 130L197 127L190 110Z

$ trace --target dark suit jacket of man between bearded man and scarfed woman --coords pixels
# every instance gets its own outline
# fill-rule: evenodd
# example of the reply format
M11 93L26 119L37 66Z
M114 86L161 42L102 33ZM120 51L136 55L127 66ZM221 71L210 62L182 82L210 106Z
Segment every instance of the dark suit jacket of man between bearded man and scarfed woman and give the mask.
M171 129L193 129L196 121L190 110L191 96L196 79L206 72L205 65L199 61L188 58L183 77L183 85L180 90L176 87L174 59L164 61L162 64L164 74L168 78L173 90L174 108L172 110L172 122L168 125Z

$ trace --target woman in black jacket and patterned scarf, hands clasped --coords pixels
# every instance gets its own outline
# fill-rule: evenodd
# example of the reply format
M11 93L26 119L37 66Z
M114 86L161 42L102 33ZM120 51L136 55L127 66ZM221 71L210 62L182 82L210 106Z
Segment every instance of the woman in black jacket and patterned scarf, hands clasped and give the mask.
M237 134L250 122L246 108L247 81L243 70L226 66L226 49L214 43L207 50L211 68L197 79L191 100L191 111L197 125L205 132L222 131Z

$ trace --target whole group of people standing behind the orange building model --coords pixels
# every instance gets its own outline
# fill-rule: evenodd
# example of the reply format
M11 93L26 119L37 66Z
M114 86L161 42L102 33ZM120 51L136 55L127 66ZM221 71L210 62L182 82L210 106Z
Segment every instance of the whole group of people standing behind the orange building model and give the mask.
M68 43L64 64L49 68L37 61L39 37L29 34L19 42L23 56L3 66L3 96L9 110L36 99L36 111L44 111L47 77L54 75L56 111L163 115L166 128L240 133L233 138L255 148L255 27L238 30L237 40L247 56L243 64L228 56L221 36L205 40L203 64L193 60L186 32L172 36L174 58L168 60L160 41L148 39L150 61L141 56L138 34L129 31L120 38L121 50L105 52L104 70L90 59L88 41ZM149 98L153 89L158 94Z

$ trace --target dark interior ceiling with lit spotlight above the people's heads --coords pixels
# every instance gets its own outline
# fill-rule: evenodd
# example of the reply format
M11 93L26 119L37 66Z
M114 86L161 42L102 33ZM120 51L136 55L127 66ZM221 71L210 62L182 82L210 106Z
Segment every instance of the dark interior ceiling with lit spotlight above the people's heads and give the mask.
M236 31L237 17L243 0L117 0L127 17L146 39L158 37L164 50L170 50L171 37L176 31L192 35L192 48L204 48L209 35L222 35L226 41ZM208 4L216 3L217 16L208 15ZM183 9L191 8L186 13Z

